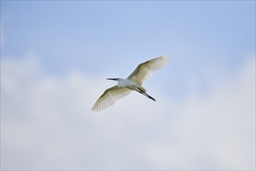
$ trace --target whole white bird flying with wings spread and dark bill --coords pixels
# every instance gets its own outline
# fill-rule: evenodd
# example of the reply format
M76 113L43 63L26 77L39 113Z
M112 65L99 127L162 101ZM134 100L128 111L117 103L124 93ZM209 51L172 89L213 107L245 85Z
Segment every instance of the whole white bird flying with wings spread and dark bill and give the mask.
M146 93L146 89L142 87L142 82L149 79L153 72L162 68L163 65L166 65L168 60L168 55L164 54L163 56L138 65L135 71L132 72L127 79L109 79L117 81L117 85L106 89L105 92L103 92L103 95L96 100L92 110L99 112L100 110L106 109L108 106L113 105L117 99L121 99L122 97L130 94L132 90L135 90L149 99L156 101L156 99Z

